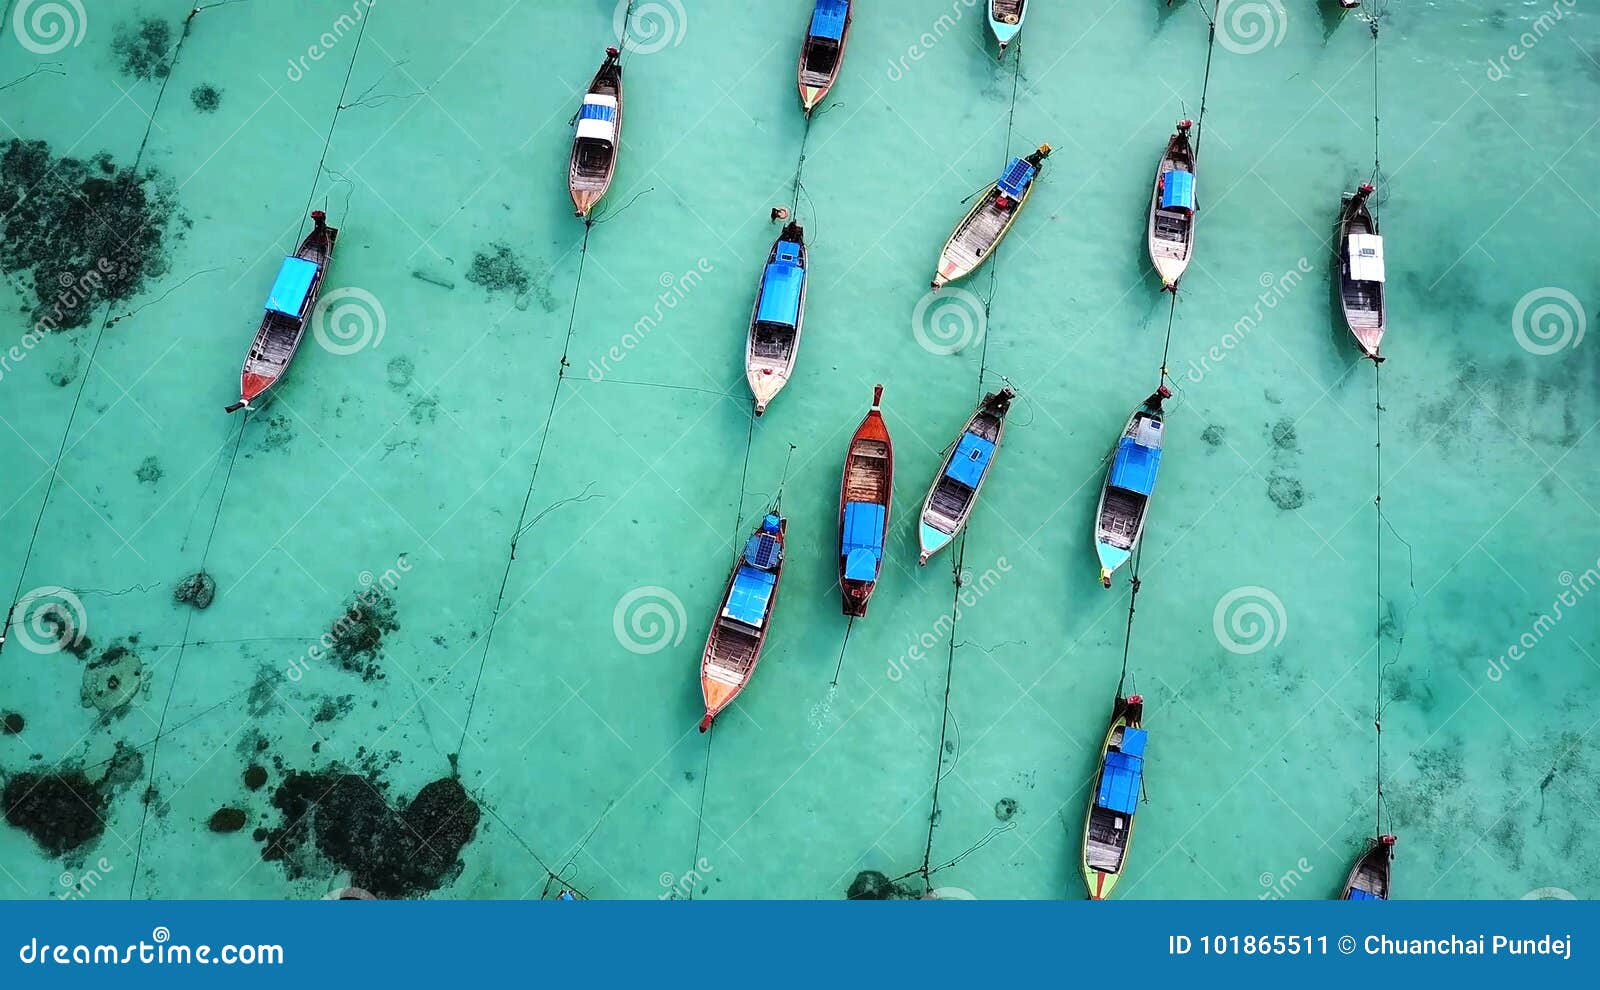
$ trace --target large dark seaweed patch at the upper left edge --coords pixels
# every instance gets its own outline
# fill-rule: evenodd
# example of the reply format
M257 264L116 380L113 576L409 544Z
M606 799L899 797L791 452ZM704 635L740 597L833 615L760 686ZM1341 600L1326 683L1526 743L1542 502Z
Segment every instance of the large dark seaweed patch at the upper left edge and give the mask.
M86 326L98 305L165 273L176 202L155 170L120 168L106 154L56 158L43 141L0 144L0 270L27 272L37 299L22 345Z

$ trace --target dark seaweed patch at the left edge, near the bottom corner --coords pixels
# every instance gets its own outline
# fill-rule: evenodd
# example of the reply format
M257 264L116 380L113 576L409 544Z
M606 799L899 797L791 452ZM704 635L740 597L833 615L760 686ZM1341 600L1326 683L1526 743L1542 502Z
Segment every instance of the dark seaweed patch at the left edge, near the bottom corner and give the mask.
M83 768L64 764L13 774L0 790L0 808L5 808L6 824L26 832L40 849L78 860L85 846L106 832L117 792L142 776L144 756L118 742L99 779L91 779Z

